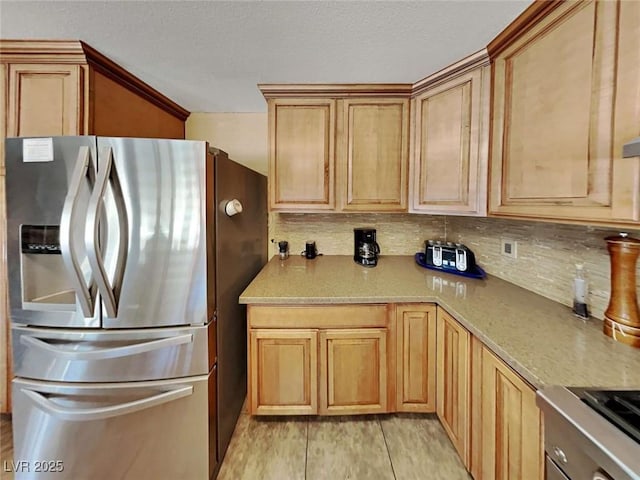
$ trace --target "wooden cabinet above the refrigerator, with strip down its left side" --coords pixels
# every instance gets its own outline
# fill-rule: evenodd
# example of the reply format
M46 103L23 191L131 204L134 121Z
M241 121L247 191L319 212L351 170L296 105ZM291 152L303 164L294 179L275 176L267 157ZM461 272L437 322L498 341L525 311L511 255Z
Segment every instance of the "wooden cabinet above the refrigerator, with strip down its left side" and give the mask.
M4 140L184 138L189 112L83 42L0 40L0 412L10 410Z

